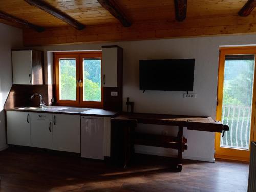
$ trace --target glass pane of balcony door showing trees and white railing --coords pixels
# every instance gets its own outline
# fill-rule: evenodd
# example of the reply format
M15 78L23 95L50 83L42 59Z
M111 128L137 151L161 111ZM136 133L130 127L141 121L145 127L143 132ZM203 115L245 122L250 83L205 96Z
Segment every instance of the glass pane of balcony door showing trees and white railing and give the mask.
M249 148L253 80L254 55L226 56L222 122L230 131L221 138L222 147Z

